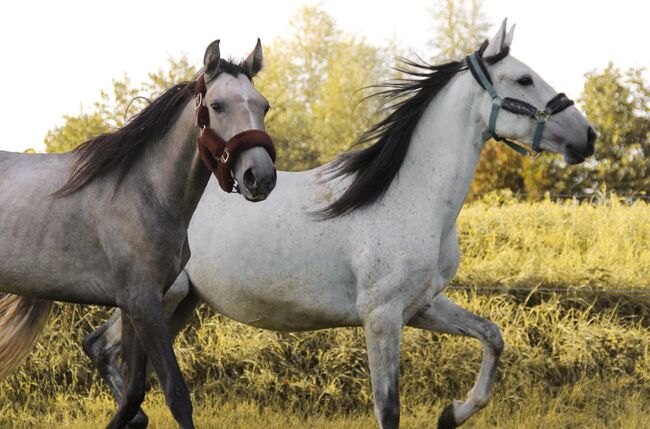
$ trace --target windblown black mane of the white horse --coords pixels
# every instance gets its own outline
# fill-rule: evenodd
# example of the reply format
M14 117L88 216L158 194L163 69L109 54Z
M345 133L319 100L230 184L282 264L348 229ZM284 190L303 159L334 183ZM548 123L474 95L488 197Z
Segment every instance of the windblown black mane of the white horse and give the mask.
M355 145L372 143L365 149L340 155L329 167L330 179L354 175L345 192L317 216L330 219L377 201L397 175L408 151L415 127L429 102L459 71L467 69L464 61L442 65L402 60L397 70L409 77L375 85L380 97L379 113L386 118L371 126ZM372 88L372 87L371 87Z

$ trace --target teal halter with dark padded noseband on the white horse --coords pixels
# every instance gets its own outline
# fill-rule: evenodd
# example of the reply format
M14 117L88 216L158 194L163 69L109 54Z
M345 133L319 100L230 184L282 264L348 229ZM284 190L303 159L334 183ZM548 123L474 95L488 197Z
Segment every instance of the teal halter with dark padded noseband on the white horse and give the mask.
M505 143L508 145L508 147L514 149L518 153L536 157L542 152L540 144L542 142L542 136L544 135L546 120L551 115L560 113L567 107L572 106L573 101L570 100L562 92L551 98L543 109L538 109L523 100L510 97L501 98L494 89L494 86L492 85L492 79L490 79L490 74L488 73L487 69L485 68L485 64L483 63L482 51L485 46L486 45L484 44L478 51L469 55L466 58L466 63L467 67L479 85L481 85L490 94L490 97L492 97L492 111L490 113L488 132L494 140ZM500 55L497 56L500 57ZM518 115L530 116L531 118L537 120L535 133L533 134L533 142L531 144L532 153L526 148L513 142L512 140L508 140L507 138L501 137L499 134L497 134L497 117L499 116L499 111L501 109Z

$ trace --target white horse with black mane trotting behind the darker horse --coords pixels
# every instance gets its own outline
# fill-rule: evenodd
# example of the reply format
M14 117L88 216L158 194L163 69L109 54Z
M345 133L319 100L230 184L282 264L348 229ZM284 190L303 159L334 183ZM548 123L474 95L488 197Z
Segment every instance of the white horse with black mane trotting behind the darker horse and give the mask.
M442 66L411 64L413 79L384 87L394 102L391 114L362 138L374 145L314 170L280 173L273 198L253 207L209 185L191 223L186 275L166 296L170 308L185 299L171 318L173 329L192 314L193 294L229 318L264 329L363 326L381 428L399 425L402 328L471 336L484 345L480 374L467 398L443 411L439 427L456 427L485 407L501 334L442 292L458 267L456 218L487 130L535 140L568 163L592 155L596 138L568 99L508 55L513 29L506 33L504 21L477 51L479 70L469 57ZM490 76L493 87L483 82ZM551 102L545 113L527 112L530 104L493 98L491 89L538 106ZM506 110L498 120L493 105ZM106 361L114 360L119 345L118 317L84 343L116 393L119 370Z

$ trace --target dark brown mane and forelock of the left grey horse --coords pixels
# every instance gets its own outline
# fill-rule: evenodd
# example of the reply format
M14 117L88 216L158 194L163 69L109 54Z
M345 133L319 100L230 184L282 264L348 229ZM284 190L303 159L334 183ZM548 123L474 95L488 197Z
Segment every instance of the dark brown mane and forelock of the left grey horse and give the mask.
M218 74L233 76L250 72L241 62L221 60ZM101 134L79 145L76 159L67 182L53 197L66 197L86 186L94 178L116 171L115 186L119 186L133 161L142 153L148 142L161 138L173 124L181 106L194 97L194 82L181 82L167 89L151 104L135 115L117 131Z

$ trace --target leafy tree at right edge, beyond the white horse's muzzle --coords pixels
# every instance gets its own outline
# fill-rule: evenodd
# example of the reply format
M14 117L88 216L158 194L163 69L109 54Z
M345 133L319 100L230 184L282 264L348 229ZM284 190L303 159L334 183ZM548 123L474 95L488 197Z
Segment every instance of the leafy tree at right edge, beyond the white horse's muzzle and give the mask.
M548 180L525 177L533 192L584 194L601 188L618 194L646 193L650 187L650 86L644 69L621 72L610 63L602 72L585 75L580 107L600 136L596 154L579 166L561 159L543 161Z

